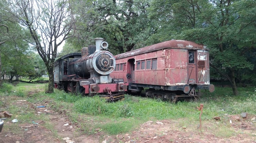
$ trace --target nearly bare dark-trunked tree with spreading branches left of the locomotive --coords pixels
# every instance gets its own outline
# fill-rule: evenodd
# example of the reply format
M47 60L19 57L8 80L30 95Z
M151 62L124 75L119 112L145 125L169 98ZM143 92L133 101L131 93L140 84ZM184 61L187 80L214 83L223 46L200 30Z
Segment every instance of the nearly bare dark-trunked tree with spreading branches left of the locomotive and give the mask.
M43 59L49 74L46 93L52 93L57 49L69 38L73 26L68 0L13 0L8 5L13 16L30 31L31 44Z

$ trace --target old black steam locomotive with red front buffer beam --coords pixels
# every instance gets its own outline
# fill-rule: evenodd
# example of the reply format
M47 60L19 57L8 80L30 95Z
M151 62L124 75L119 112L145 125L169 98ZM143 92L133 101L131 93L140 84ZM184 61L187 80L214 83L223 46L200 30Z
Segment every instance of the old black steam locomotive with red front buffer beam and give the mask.
M95 39L96 46L81 49L81 53L62 56L54 63L54 86L66 92L93 96L98 94L107 100L124 98L128 83L110 77L116 66L108 43L103 38Z

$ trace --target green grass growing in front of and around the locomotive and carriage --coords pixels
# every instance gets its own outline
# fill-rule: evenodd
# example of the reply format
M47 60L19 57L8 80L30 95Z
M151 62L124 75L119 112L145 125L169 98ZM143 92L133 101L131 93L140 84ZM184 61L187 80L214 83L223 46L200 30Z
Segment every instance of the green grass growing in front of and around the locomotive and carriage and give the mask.
M30 91L39 89L42 91L28 94ZM194 129L193 125L198 124L200 114L196 106L202 103L204 105L203 124L209 124L210 129L215 130L212 133L218 137L230 137L235 132L230 130L229 119L226 118L226 115L240 115L242 112L256 115L256 87L238 88L239 95L237 96L232 95L231 88L216 87L213 93L202 91L202 96L198 101L183 101L176 104L128 94L125 95L123 101L106 102L98 96L83 97L60 90L46 94L44 89L45 84L18 83L16 86L4 84L4 89L0 90L0 95L1 97L16 95L31 103L49 101L51 109L59 113L66 113L72 122L79 124L83 131L80 133L83 134L94 134L96 133L95 128L100 128L98 132L111 135L127 133L149 120L164 119L179 121L178 128ZM8 105L11 105L12 100L8 99L7 102ZM1 108L5 108L3 104L0 102ZM49 121L43 116L36 116L34 111L26 106L15 107L11 105L8 110L12 114L18 115L21 123L42 119ZM222 118L221 124L211 123L212 118L216 116ZM222 125L222 123L225 124ZM46 124L46 126L51 128L50 124ZM54 128L51 130L54 132Z

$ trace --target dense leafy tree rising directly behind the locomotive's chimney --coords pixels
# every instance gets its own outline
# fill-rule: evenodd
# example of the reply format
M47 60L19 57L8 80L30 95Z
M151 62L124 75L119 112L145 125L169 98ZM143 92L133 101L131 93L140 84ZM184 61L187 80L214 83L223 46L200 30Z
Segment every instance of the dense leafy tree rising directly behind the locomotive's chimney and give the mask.
M149 36L144 34L149 20L147 0L98 0L75 1L77 15L76 39L68 42L79 48L92 44L95 37L102 37L111 45L114 54L145 46Z

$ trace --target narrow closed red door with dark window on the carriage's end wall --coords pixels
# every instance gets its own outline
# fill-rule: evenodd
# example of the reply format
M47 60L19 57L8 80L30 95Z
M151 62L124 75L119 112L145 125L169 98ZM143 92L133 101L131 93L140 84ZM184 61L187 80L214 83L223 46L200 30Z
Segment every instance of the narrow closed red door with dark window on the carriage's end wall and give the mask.
M197 78L196 78L196 51L189 51L188 55L188 84L196 84Z

